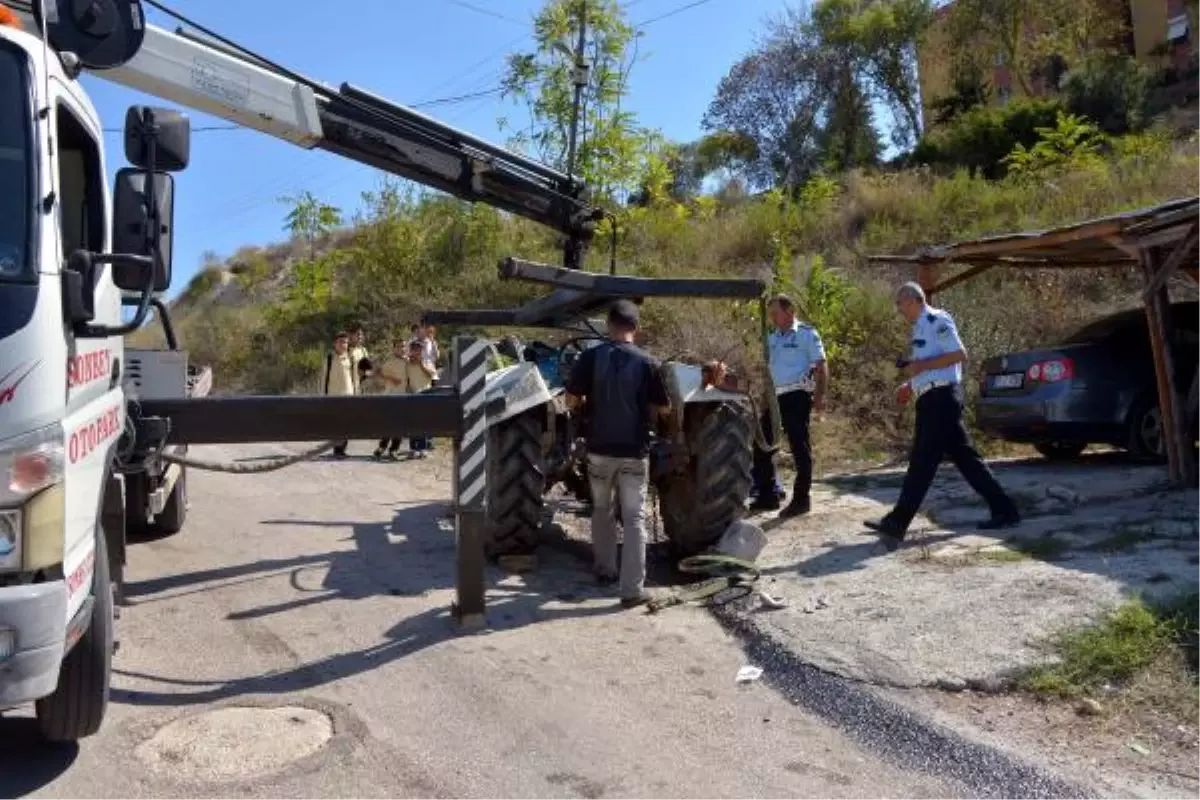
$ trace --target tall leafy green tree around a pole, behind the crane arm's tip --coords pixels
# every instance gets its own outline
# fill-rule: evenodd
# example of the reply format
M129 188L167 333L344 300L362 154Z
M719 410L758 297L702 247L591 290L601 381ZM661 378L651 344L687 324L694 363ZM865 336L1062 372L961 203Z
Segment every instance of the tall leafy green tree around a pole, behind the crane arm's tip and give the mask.
M578 52L580 23L587 37ZM512 54L502 83L503 95L526 107L529 124L510 145L533 150L544 162L566 169L575 76L586 77L580 103L574 173L599 198L612 199L636 188L644 157L644 134L637 118L622 108L629 74L637 59L637 32L617 0L548 0L534 18L534 49ZM502 119L500 127L511 127Z

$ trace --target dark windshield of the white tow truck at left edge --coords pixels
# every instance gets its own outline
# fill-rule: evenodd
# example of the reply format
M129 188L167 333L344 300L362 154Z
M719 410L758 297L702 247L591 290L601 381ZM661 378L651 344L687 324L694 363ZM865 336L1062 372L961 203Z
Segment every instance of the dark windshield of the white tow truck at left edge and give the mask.
M0 42L0 281L30 279L34 207L29 70Z

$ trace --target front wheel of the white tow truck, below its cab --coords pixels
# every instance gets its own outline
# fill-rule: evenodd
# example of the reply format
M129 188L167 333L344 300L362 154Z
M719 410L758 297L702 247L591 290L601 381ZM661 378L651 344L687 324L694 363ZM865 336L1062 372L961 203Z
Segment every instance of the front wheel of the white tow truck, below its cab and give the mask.
M96 536L91 622L62 661L54 693L37 700L37 727L48 741L71 742L100 730L113 674L113 585L104 535Z

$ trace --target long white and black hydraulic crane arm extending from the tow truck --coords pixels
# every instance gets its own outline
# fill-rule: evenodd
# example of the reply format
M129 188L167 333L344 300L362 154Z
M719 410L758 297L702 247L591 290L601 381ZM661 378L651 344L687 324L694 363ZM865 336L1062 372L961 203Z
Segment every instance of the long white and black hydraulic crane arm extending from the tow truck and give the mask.
M25 18L29 30L37 31L32 14ZM212 40L145 25L132 58L88 71L553 228L566 237L566 266L580 266L604 216L583 199L582 182L565 173L362 89L349 84L334 89Z

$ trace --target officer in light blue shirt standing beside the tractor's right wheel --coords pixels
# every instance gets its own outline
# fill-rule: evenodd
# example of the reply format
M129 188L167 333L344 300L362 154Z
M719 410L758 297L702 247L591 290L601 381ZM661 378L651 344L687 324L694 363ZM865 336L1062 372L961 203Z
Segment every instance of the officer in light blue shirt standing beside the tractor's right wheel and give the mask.
M811 325L796 319L796 305L787 295L775 295L768 306L775 331L768 337L770 378L779 398L779 416L787 444L796 462L796 485L792 499L780 517L796 517L811 510L812 444L809 423L812 411L824 408L829 367L826 363L821 335ZM762 421L767 441L774 444L774 427L764 414ZM779 509L775 463L772 456L755 447L754 485L757 492L756 511Z

